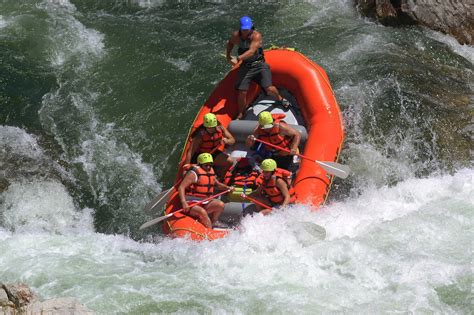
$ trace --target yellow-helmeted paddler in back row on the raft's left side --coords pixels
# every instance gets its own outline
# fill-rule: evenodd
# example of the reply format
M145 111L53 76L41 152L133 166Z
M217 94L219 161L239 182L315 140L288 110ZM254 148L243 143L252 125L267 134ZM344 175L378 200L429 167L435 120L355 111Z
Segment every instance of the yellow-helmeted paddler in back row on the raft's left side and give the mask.
M191 139L191 148L186 153L184 164L196 163L199 154L210 153L214 164L220 166L217 169L219 178L224 178L234 159L222 149L226 145L233 145L235 139L227 128L220 124L216 115L205 114L202 125L196 129Z

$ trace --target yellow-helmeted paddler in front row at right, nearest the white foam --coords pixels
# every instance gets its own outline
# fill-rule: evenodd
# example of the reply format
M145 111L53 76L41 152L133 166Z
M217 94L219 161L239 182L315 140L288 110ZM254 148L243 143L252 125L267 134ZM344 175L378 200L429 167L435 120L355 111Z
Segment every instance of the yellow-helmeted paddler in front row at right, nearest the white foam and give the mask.
M263 173L260 175L260 185L249 196L269 207L285 207L296 201L296 194L291 185L291 172L277 167L273 159L265 159L260 165ZM266 215L272 210L258 203L257 211Z

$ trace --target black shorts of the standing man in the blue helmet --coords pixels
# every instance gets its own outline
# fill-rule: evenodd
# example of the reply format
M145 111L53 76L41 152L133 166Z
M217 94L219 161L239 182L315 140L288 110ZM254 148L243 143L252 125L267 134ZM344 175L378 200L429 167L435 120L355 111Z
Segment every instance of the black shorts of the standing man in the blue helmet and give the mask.
M260 62L252 66L242 64L237 72L237 82L235 88L237 90L247 91L250 82L257 82L262 88L272 85L272 73L270 66L266 62Z

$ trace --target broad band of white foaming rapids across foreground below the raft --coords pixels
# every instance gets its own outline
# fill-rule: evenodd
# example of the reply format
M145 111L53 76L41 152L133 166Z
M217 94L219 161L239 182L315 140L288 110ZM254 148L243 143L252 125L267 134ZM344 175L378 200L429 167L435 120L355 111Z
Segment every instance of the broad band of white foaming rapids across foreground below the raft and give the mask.
M172 312L170 301L181 312L453 313L437 288L469 290L473 174L370 188L317 212L295 206L247 217L213 242L0 233L0 270L99 313ZM324 226L327 239L301 222Z

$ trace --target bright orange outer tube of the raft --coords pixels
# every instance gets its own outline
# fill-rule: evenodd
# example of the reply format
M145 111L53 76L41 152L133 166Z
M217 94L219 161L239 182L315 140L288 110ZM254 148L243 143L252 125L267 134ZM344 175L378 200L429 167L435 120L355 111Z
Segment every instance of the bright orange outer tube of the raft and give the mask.
M270 65L273 84L280 93L281 90L285 90L293 96L298 104L302 124L307 131L304 146L300 146L302 154L318 161L337 161L344 132L340 109L326 72L301 53L290 49L267 50L265 60ZM237 116L237 91L234 88L237 70L232 69L219 82L196 116L181 156L180 167L190 147L190 135L200 126L205 114L214 113L220 123L227 128L232 118ZM262 95L261 89L252 83L247 94L247 101L252 104L259 95ZM256 119L255 115L254 119ZM256 126L256 122L253 126ZM248 134L251 132L250 130ZM181 175L180 168L176 182L181 179ZM318 164L301 160L294 180L297 203L310 204L314 207L323 204L329 193L332 178L333 176L326 173ZM175 191L170 197L165 213L168 214L180 208L181 203ZM163 224L163 232L172 237L189 237L193 240L214 240L228 234L228 230L208 229L195 219L181 213L175 214Z

